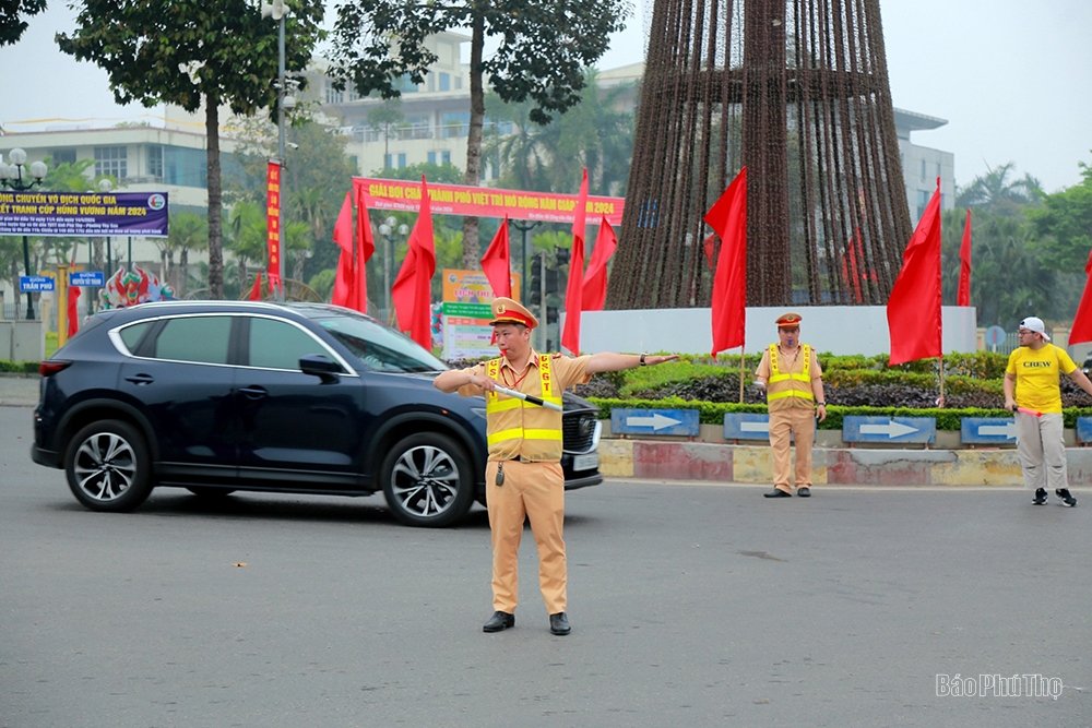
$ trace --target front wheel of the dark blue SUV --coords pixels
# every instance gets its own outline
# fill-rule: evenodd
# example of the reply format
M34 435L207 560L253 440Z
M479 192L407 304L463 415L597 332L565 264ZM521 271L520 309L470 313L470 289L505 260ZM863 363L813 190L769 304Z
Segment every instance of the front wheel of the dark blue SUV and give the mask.
M401 440L379 469L387 504L411 526L448 526L474 502L474 476L465 451L451 438L419 432Z

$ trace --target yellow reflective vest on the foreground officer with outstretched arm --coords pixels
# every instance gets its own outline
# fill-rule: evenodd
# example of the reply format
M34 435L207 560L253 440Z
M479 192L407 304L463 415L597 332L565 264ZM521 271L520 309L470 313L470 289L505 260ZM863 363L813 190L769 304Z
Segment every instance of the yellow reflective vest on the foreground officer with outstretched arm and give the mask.
M507 386L500 379L500 359L486 362L486 374L501 386ZM539 391L535 392L533 380L529 377L515 389L524 394L541 396L546 402L561 404L561 391L554 384L548 354L538 355L538 384ZM486 392L485 413L489 460L511 460L515 456L533 462L561 460L561 413L496 392Z

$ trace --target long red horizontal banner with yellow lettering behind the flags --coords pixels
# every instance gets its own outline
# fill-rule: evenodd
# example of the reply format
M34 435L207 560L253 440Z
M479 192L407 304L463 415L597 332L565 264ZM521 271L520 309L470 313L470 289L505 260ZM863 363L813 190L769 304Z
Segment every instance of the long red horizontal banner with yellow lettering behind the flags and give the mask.
M420 206L420 182L396 179L354 177L354 188L364 194L369 210L397 210L417 212ZM523 192L496 190L463 184L428 184L428 198L434 215L470 215L472 217L503 217L568 223L577 219L577 195L550 192ZM587 196L587 224L598 225L604 217L615 226L621 225L626 205L624 198Z

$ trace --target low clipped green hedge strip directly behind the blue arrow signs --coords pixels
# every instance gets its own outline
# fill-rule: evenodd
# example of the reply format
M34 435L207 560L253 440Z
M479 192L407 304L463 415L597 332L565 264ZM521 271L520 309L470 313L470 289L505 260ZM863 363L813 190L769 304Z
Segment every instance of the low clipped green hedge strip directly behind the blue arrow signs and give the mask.
M600 408L600 419L610 419L610 410L619 409L697 409L698 420L702 425L723 425L725 413L760 413L765 414L765 405L740 405L725 402L692 402L680 397L666 399L605 399L589 397L589 402ZM1012 413L1005 409L914 409L912 407L840 407L831 405L827 408L827 419L819 423L820 430L841 430L842 418L846 416L862 417L935 417L937 429L959 431L963 417L1011 417ZM1065 426L1077 427L1078 417L1092 417L1092 407L1070 407L1063 413Z

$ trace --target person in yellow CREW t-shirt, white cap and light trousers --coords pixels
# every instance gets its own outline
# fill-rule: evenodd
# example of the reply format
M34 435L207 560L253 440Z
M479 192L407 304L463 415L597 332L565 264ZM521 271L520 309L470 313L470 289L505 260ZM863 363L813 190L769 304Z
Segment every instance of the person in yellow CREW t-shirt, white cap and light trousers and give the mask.
M1035 505L1046 503L1047 489L1054 488L1055 496L1072 508L1077 499L1069 492L1058 378L1068 374L1089 394L1092 382L1065 349L1049 343L1042 319L1028 317L1021 321L1018 335L1020 347L1009 355L1005 369L1005 408L1016 413L1017 453L1024 487L1035 491Z

